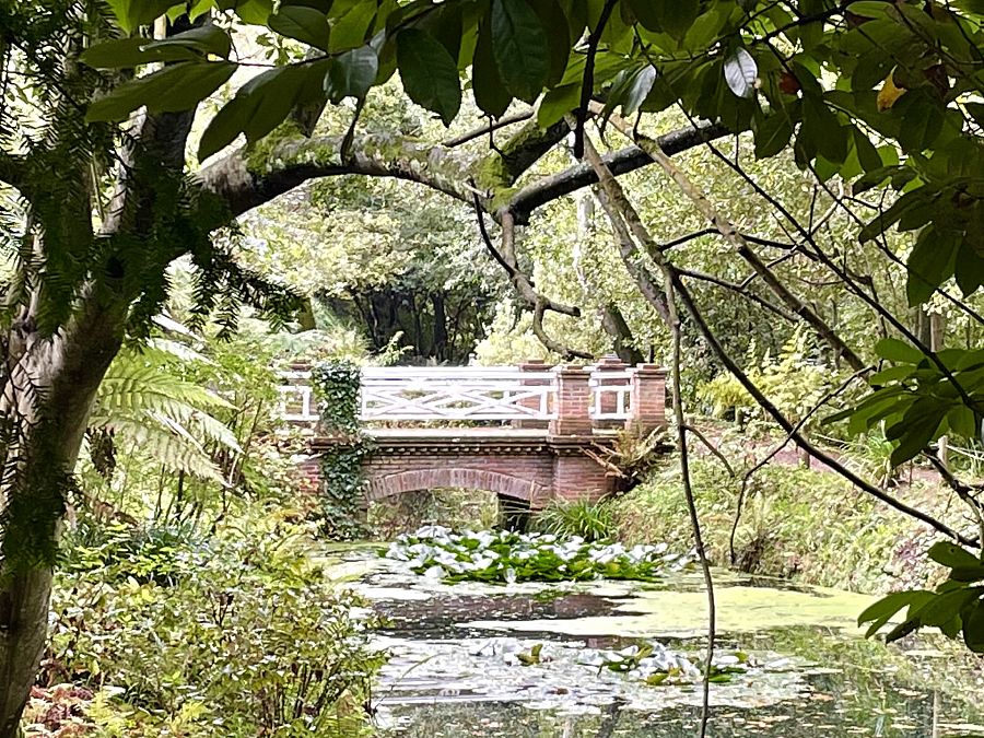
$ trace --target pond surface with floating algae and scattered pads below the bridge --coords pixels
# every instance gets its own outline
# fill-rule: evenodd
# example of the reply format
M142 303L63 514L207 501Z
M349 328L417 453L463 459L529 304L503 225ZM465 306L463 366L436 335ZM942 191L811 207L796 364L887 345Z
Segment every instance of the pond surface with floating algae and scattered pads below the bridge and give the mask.
M698 574L655 584L444 584L374 548L337 550L329 561L386 621L377 642L391 658L374 695L383 736L695 735L699 684L652 686L599 664L641 644L699 658L706 600ZM971 659L954 659L933 636L901 647L864 640L856 618L874 598L728 572L716 572L716 591L718 652L747 664L712 686L711 735L984 736L984 679Z

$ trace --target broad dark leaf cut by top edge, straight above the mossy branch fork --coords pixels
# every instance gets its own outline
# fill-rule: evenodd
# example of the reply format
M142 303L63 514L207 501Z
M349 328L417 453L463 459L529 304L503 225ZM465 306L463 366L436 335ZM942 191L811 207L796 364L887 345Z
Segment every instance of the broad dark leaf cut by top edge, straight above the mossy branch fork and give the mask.
M513 96L532 103L550 77L550 46L526 0L492 0L492 51L499 75Z

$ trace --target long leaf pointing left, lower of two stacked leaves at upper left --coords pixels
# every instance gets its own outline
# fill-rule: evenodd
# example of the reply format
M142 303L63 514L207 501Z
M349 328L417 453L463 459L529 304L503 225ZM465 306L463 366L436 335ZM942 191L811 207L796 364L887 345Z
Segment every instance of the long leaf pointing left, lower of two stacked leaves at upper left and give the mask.
M94 101L85 119L124 120L142 105L151 113L189 110L225 83L237 67L229 61L186 61L165 67L153 74L125 82Z

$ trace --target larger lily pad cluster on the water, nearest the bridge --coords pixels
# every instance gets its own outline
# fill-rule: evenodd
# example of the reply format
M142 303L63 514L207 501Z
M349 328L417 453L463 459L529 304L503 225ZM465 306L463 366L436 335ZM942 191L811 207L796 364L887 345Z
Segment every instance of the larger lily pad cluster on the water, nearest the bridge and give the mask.
M476 581L582 582L637 579L651 582L692 564L691 554L668 552L666 543L626 548L589 542L579 536L522 534L511 530L465 530L424 526L399 536L386 552L407 562L417 574L447 582Z

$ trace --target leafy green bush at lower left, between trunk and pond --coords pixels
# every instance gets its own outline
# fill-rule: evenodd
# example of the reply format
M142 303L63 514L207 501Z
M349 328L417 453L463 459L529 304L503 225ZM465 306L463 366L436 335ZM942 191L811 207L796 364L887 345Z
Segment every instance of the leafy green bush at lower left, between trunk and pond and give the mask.
M49 683L108 689L128 723L181 735L355 736L384 655L309 530L249 516L212 537L114 529L71 552L52 601ZM130 734L126 734L130 735Z

